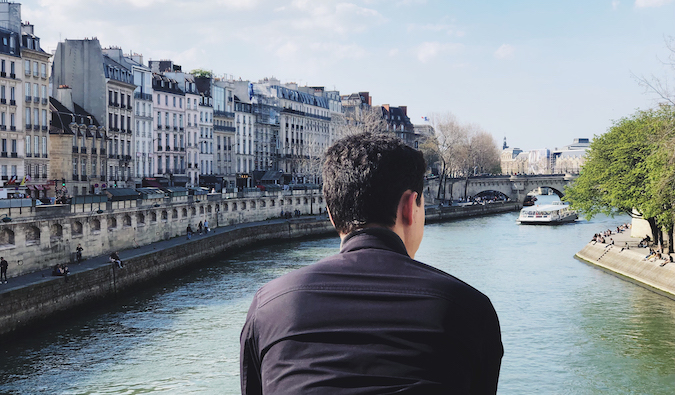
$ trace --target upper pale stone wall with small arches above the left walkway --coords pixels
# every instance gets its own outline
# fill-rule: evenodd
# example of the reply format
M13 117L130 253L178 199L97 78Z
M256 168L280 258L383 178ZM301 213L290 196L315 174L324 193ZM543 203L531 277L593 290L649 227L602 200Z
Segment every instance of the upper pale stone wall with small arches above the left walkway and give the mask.
M194 231L277 218L281 212L325 212L320 190L238 192L122 200L73 205L0 209L0 256L10 276L72 262L78 244L83 257L109 254Z

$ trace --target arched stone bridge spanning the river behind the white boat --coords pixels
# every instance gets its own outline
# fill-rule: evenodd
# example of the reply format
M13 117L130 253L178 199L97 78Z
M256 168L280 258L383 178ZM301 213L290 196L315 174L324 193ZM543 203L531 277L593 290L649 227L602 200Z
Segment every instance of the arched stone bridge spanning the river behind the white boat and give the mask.
M479 195L481 192L496 191L508 196L511 200L523 203L525 196L538 188L548 187L555 194L564 196L565 186L570 185L578 176L571 174L542 174L517 176L478 176L468 180L449 178L440 199L460 199ZM438 196L439 179L428 181L425 199L434 204Z

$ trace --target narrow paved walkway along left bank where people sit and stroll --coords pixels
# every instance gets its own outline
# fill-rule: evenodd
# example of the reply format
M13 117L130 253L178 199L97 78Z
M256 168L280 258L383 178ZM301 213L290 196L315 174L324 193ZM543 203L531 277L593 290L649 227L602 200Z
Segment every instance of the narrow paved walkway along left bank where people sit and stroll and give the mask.
M219 228L211 228L208 234L202 233L201 235L199 232L194 232L192 234L192 238L190 240L187 239L186 235L174 237L168 240L163 240L163 241L158 241L155 243L150 243L146 244L143 246L139 246L137 248L131 248L131 249L126 249L126 250L120 250L119 251L119 256L122 262L125 262L131 258L145 255L148 253L151 253L153 251L159 251L163 250L169 247L177 246L177 245L182 245L182 244L187 244L191 243L195 240L199 240L200 238L204 237L211 237L216 234L222 234L222 233L227 233L230 231L233 231L235 229L242 229L242 228L250 228L250 227L255 227L255 226L260 226L264 224L275 224L275 223L299 223L299 222L305 222L305 221L316 221L320 219L328 219L327 215L322 214L322 215L303 215L301 217L295 217L295 218L289 218L289 219L271 219L271 220L266 220L266 221L258 221L258 222L247 222L247 223L242 223L242 224L236 224L236 225L227 225L227 226L221 226ZM110 251L108 254L104 255L99 255L99 256L93 256L93 257L87 257L87 251L83 251L83 257L85 260L83 260L80 263L71 263L71 262L63 262L68 264L68 269L70 271L70 275L84 272L87 270L92 270L92 269L97 269L100 267L104 266L109 266L112 265L112 263L109 260L110 253L113 251ZM11 277L12 275L12 267L16 267L15 262L9 262L9 268L7 269L7 275L8 275L8 281L7 283L2 283L0 284L0 295L6 292L10 292L13 290L21 289L30 285L42 283L42 282L47 282L47 281L66 281L66 277L64 276L52 276L52 267L45 268L43 270L40 270L38 272L33 272L33 273L27 273L23 274L20 276L16 277ZM124 270L124 269L120 269Z

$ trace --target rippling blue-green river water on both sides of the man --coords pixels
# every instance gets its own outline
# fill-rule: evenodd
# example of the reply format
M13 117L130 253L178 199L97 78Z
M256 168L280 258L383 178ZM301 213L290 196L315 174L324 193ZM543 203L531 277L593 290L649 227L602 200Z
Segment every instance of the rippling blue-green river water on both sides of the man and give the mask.
M628 218L516 218L427 225L417 254L492 300L505 348L499 393L675 393L675 301L573 257ZM338 248L330 238L224 256L0 342L0 393L238 394L239 331L255 291Z

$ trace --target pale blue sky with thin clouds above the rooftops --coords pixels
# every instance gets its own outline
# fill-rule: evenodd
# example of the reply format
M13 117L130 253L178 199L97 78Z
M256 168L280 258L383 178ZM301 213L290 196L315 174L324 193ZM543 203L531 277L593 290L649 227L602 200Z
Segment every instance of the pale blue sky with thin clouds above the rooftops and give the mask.
M43 49L97 37L184 71L368 91L554 149L657 105L675 0L23 0Z

